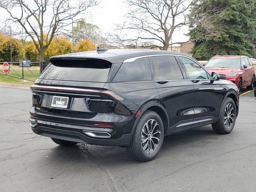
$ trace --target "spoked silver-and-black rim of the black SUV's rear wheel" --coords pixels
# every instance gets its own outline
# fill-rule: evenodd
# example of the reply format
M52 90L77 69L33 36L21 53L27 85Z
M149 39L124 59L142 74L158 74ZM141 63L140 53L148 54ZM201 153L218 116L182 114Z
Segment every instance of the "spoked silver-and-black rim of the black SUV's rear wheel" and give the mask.
M160 143L160 126L154 119L148 120L141 133L141 145L147 154L153 153Z

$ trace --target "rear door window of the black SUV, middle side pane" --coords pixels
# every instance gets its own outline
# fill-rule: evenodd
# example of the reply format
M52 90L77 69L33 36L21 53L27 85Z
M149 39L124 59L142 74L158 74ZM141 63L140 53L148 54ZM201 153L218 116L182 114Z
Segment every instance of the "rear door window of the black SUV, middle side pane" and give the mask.
M183 79L180 67L174 56L153 56L156 80Z

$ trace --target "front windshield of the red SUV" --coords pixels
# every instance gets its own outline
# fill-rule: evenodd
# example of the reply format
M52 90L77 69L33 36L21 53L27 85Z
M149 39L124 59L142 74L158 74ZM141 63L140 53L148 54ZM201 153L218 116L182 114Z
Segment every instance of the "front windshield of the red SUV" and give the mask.
M209 60L206 67L217 67L217 68L240 68L239 58L213 58Z

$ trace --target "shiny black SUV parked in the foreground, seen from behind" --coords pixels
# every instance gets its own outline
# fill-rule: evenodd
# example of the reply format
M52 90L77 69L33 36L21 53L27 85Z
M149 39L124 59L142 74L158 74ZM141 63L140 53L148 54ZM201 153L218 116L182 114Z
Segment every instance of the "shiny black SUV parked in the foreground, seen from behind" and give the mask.
M207 124L228 134L238 115L236 85L185 54L98 48L50 62L31 86L30 126L63 146L122 146L148 161L164 136Z

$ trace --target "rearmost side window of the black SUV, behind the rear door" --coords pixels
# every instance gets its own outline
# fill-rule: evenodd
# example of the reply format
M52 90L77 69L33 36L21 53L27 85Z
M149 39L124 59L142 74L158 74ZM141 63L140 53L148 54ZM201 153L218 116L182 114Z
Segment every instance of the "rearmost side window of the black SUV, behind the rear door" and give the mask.
M123 63L113 82L137 82L152 80L148 57Z

